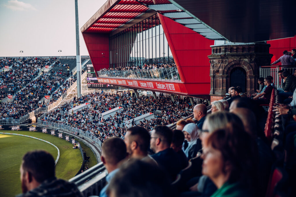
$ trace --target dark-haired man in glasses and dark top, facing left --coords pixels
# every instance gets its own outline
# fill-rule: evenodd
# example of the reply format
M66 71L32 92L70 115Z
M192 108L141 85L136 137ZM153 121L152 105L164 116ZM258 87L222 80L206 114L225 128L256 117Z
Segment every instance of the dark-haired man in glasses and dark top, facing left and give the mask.
M157 125L151 133L150 148L155 152L153 159L174 181L182 168L178 154L170 148L172 138L173 131L169 127Z

